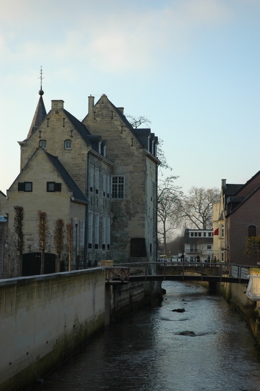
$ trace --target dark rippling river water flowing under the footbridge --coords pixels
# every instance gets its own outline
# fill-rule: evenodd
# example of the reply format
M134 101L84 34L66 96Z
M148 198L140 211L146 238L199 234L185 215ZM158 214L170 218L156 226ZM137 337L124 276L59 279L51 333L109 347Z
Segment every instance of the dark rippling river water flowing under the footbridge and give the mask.
M240 315L201 286L163 287L161 306L108 326L33 390L260 391L258 352Z

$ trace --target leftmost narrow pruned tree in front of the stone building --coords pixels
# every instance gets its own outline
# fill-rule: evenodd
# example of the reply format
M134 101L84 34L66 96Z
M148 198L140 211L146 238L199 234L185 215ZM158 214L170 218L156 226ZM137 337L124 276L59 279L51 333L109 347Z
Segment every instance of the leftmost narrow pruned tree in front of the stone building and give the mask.
M23 219L24 219L24 210L23 206L14 206L15 217L14 217L14 229L15 229L15 238L14 246L19 252L19 276L22 277L22 252L24 250L24 233L23 233Z

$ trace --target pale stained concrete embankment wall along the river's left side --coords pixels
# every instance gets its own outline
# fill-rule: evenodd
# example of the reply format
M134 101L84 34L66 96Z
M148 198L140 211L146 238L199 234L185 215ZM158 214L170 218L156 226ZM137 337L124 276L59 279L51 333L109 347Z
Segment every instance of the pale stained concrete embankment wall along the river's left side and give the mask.
M105 326L105 270L0 280L0 390L26 390Z

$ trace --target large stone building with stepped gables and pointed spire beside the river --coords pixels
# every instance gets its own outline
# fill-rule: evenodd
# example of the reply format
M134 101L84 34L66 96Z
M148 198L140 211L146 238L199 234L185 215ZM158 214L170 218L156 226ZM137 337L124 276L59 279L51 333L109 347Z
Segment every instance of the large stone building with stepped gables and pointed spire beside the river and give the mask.
M45 251L50 259L56 254L54 222L63 218L65 224L73 223L74 236L79 231L73 247L76 268L97 265L101 259L156 261L158 138L150 129L133 129L123 108L116 108L106 95L95 106L89 97L90 111L80 122L63 100L52 100L47 113L42 89L39 94L27 137L19 142L21 173L7 190L9 261L3 277L21 275L14 247L14 205L25 211L24 262L32 253L39 254L38 210L49 219ZM61 190L48 191L56 184ZM24 190L26 186L31 190ZM66 248L62 261L67 262Z

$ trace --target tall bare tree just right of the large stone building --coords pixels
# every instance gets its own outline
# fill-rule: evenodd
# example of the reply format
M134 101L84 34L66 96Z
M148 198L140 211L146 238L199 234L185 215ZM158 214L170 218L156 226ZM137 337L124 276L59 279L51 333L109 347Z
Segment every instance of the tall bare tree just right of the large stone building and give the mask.
M157 190L157 218L158 234L163 240L164 254L167 252L167 236L177 228L176 210L179 198L182 195L180 187L174 181L178 176L168 176L158 181Z

